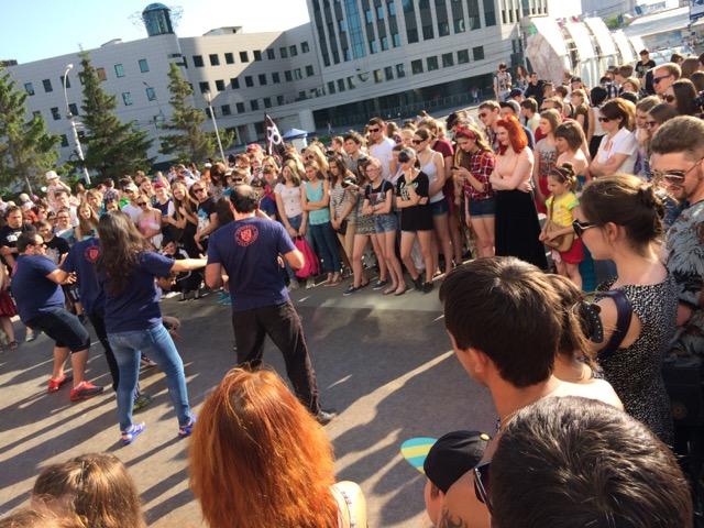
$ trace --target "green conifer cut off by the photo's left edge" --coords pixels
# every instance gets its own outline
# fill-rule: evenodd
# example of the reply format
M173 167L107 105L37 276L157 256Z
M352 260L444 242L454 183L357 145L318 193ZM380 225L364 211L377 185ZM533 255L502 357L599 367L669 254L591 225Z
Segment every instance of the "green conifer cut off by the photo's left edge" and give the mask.
M0 67L0 185L12 187L24 180L32 191L32 184L38 184L58 158L59 138L48 133L41 116L26 120L25 99Z

